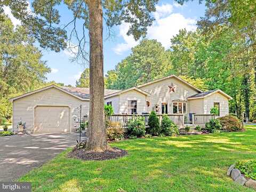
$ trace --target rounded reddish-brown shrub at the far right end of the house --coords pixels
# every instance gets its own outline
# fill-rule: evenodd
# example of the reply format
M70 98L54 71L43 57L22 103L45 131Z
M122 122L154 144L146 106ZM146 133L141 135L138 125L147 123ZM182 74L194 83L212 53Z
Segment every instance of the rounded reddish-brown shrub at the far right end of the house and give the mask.
M222 125L223 130L226 130L228 132L242 130L242 124L235 116L227 115L224 117L219 117L218 119L220 121L220 124Z

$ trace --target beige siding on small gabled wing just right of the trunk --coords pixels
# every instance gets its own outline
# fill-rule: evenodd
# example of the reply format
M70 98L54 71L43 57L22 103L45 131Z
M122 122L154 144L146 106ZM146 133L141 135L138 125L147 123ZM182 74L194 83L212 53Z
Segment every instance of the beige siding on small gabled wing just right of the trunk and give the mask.
M119 95L119 113L127 114L128 100L137 100L137 114L146 112L146 95L138 91L131 90Z

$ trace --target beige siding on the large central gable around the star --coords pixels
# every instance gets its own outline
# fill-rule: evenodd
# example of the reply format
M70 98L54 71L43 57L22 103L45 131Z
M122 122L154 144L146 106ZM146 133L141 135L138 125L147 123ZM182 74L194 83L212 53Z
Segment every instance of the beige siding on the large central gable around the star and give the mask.
M176 85L175 92L170 93L169 85ZM141 90L146 91L150 94L147 97L147 100L150 102L150 106L147 108L147 111L150 112L153 110L155 105L159 105L159 113L162 111L162 102L168 103L168 113L173 113L172 101L176 99L186 100L187 97L198 93L198 91L192 89L190 86L186 85L183 82L180 82L178 79L171 77L164 79L153 84L145 85L140 87ZM188 108L187 108L188 109ZM187 113L189 111L187 110Z

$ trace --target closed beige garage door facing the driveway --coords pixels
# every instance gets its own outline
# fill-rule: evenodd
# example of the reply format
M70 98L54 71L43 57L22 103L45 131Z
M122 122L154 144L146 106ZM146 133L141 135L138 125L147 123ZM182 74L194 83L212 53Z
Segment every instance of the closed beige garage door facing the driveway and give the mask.
M34 133L70 132L69 107L38 106L35 108Z

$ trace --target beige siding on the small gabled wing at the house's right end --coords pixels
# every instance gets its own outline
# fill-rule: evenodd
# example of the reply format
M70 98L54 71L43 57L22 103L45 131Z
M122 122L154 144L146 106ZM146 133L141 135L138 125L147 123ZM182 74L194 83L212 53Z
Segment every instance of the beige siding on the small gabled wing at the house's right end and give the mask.
M228 99L218 92L204 98L204 114L210 114L214 102L220 103L220 117L229 114Z

